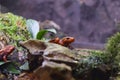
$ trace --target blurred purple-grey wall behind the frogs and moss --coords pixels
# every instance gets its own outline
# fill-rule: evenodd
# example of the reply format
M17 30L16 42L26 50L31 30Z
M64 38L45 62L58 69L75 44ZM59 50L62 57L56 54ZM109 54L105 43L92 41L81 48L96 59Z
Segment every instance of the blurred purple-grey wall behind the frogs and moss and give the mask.
M74 46L103 49L119 31L120 0L0 0L2 12L39 21L53 20L76 38Z

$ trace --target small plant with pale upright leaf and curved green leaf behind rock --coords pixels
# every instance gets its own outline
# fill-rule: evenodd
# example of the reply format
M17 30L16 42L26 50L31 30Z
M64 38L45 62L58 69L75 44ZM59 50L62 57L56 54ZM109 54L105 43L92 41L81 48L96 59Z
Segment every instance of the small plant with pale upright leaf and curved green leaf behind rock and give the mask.
M46 34L49 34L49 32L52 32L53 34L57 34L57 31L53 28L41 29L41 27L39 25L40 23L33 19L28 19L26 21L26 24L27 24L27 29L30 32L30 35L33 39L47 41L47 38L45 38ZM51 38L51 37L49 37L49 38Z

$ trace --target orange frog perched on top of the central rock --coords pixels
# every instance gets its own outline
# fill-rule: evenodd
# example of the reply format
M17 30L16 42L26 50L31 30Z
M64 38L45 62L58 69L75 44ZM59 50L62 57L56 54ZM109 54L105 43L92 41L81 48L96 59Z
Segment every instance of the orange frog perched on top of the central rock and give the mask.
M74 37L63 37L62 39L57 37L50 40L49 42L56 43L65 47L70 47L70 44L74 41L75 41Z

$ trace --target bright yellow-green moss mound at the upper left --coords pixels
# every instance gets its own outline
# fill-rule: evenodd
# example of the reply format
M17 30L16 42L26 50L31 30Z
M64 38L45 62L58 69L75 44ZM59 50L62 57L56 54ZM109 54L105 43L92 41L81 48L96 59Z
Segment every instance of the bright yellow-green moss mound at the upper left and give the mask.
M0 14L0 31L9 37L10 43L14 45L17 45L18 41L30 38L26 29L26 20L12 13Z

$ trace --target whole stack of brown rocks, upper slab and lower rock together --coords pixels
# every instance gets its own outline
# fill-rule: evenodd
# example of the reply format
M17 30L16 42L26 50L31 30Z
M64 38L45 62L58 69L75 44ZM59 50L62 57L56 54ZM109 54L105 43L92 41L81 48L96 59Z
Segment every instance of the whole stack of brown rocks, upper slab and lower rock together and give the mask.
M72 50L40 40L28 40L21 42L21 45L29 51L31 73L19 76L18 80L74 80L72 67L77 60Z

